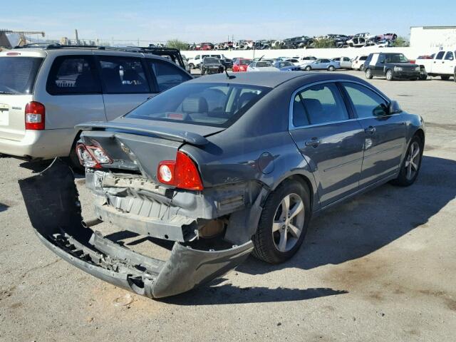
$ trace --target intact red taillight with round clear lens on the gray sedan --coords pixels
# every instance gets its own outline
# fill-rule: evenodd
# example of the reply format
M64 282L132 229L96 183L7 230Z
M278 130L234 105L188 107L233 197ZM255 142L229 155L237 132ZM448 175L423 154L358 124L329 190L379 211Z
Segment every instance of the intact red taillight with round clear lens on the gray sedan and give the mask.
M176 160L163 160L158 164L157 179L160 183L180 189L204 189L197 165L188 155L180 151L177 151Z

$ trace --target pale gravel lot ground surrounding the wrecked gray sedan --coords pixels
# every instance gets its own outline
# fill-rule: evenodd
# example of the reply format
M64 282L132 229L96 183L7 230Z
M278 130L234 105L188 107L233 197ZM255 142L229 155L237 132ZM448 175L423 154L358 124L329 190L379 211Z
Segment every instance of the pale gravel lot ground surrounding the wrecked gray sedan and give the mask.
M48 251L17 184L43 165L1 157L0 341L455 341L456 84L372 83L425 118L415 185L383 185L314 219L286 264L250 257L223 279L162 301L132 294L131 304L115 306L127 291Z

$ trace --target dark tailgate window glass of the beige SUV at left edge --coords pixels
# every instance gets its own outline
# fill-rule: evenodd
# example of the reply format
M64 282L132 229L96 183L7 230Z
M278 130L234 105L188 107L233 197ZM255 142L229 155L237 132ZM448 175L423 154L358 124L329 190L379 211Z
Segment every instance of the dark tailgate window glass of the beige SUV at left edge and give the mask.
M31 94L43 58L0 57L0 94Z

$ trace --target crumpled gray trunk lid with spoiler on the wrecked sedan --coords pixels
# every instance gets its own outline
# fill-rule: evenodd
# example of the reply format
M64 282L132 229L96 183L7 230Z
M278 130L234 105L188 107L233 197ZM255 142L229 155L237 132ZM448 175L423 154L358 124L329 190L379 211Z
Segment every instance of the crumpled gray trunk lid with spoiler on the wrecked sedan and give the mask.
M83 130L81 140L86 145L102 147L113 160L103 167L141 172L157 182L157 167L163 160L175 160L177 150L184 144L204 146L207 135L224 128L119 118L108 123L95 122L76 126Z

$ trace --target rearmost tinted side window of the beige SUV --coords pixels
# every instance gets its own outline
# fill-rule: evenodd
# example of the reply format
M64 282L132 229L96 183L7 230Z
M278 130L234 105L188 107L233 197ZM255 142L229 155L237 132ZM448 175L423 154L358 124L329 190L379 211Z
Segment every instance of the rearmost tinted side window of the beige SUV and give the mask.
M59 56L46 84L51 95L100 94L101 86L93 56Z

